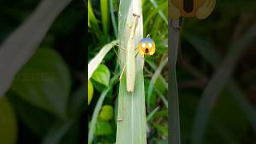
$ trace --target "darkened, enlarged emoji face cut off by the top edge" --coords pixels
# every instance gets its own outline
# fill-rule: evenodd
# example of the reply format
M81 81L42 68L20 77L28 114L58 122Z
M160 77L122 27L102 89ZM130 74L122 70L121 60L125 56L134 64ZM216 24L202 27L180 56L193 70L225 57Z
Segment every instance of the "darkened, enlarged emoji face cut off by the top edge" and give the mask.
M171 0L170 18L197 17L207 18L212 11L216 0Z

